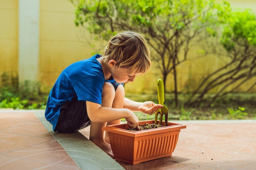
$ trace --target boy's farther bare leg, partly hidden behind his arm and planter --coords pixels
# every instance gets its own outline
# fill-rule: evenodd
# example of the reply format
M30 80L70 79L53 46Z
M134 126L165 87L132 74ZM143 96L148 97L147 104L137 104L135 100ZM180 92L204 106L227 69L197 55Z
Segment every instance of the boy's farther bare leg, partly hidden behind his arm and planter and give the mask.
M117 87L117 90L115 92L115 98L112 104L112 108L124 108L124 86L121 84ZM121 123L121 119L110 121L107 123L107 125L114 125L114 124L120 124L120 123ZM108 144L110 144L108 132L105 132L105 141Z

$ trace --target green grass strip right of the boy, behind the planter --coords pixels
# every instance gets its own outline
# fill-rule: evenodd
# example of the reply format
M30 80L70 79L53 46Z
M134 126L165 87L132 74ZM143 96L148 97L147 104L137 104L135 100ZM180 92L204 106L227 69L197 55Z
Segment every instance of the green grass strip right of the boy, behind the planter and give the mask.
M168 120L256 119L255 93L229 94L211 104L202 103L196 108L184 104L188 96L188 94L180 94L179 106L175 107L174 95L165 95L164 104L168 108ZM158 103L156 94L126 94L126 97L137 102L149 100ZM135 112L135 114L140 120L155 119L155 115L146 115L141 112Z

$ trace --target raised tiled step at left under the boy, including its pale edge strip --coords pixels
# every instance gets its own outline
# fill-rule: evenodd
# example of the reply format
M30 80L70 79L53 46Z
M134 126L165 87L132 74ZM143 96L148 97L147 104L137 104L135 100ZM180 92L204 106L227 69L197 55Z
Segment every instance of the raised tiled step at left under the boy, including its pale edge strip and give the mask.
M81 133L56 133L44 110L0 110L0 170L124 170Z

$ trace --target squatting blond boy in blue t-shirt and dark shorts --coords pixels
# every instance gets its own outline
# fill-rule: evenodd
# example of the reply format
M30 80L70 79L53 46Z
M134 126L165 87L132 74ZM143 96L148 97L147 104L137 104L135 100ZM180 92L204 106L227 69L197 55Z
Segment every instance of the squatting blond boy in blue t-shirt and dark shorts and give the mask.
M119 124L125 118L139 129L132 111L152 115L162 105L134 102L124 97L123 83L134 82L151 66L145 39L133 31L112 37L103 55L94 55L65 68L56 80L45 110L54 131L75 132L90 125L90 140L114 157L102 126ZM104 137L105 136L105 137Z

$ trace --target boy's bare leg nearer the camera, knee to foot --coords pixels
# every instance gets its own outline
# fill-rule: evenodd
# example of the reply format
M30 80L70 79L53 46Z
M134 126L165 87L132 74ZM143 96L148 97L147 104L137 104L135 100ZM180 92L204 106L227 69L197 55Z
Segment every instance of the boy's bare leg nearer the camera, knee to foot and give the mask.
M115 88L109 82L105 82L103 85L102 91L102 103L101 106L103 107L112 107L113 101L115 98ZM95 123L91 121L90 127L90 140L99 146L104 152L106 152L110 157L115 158L112 152L110 144L106 143L104 140L104 132L101 130L103 126L106 126L106 123Z

